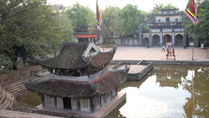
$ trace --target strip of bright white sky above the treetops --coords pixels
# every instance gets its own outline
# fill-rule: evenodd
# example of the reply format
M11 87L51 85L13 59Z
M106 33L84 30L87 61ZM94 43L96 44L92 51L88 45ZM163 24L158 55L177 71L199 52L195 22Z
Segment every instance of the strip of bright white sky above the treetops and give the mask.
M62 4L65 7L72 6L75 3L79 3L83 6L88 6L93 11L96 9L96 0L47 0L47 3ZM99 7L105 10L107 6L116 6L123 8L127 4L136 5L139 10L150 12L155 5L159 4L172 4L180 10L184 10L187 4L187 0L98 0Z

